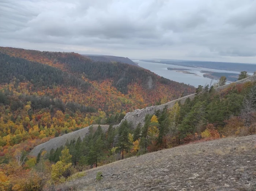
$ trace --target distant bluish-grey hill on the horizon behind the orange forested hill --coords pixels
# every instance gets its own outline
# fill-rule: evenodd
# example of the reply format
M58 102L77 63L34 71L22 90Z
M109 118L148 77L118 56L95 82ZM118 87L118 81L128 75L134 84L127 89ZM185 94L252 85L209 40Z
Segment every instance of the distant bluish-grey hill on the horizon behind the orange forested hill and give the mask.
M86 55L84 56L92 59L93 61L100 61L100 62L121 62L127 63L129 65L138 66L135 62L131 61L129 58L124 58L120 56L109 56L109 55Z

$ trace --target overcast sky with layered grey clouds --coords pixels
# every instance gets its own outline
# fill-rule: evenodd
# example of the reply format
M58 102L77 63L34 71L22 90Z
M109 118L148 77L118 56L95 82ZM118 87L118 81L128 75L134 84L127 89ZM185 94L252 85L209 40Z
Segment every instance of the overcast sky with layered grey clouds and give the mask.
M256 63L256 0L0 0L0 46Z

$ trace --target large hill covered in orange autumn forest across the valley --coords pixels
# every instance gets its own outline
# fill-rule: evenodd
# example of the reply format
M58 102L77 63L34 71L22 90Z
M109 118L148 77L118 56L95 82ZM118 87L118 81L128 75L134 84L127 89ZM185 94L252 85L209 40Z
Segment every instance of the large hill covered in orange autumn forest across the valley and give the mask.
M74 52L0 47L0 63L0 163L16 149L91 124L118 124L127 112L195 92L137 66Z

